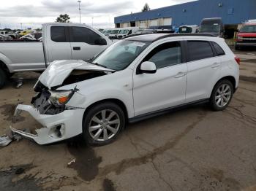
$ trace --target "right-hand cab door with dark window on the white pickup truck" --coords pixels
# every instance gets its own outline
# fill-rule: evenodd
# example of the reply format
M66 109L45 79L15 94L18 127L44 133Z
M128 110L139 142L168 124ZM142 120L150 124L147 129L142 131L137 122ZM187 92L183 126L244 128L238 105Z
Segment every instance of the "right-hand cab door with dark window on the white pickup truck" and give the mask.
M86 27L69 27L72 59L86 61L107 47L107 41Z

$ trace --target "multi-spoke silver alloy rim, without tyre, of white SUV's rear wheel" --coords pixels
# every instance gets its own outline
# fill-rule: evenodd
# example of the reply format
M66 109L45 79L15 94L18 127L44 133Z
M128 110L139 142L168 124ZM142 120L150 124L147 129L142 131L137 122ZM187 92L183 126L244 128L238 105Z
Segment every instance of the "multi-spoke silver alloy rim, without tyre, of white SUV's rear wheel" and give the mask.
M230 101L231 87L228 84L220 85L215 94L215 103L219 107L224 107Z

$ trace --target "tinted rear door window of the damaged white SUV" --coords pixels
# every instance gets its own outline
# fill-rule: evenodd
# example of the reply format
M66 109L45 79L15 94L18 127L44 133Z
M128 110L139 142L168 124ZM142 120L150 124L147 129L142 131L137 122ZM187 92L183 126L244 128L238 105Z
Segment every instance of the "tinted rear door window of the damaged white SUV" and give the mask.
M188 41L189 60L197 61L214 56L211 44L206 41Z

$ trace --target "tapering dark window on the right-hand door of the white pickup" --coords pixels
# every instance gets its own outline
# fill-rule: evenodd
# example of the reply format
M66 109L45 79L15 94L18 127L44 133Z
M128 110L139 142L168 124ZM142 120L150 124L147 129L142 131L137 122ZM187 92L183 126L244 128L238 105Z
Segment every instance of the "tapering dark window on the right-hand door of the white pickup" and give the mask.
M91 31L89 28L73 26L71 28L70 42L85 42L91 45L107 45L102 36Z

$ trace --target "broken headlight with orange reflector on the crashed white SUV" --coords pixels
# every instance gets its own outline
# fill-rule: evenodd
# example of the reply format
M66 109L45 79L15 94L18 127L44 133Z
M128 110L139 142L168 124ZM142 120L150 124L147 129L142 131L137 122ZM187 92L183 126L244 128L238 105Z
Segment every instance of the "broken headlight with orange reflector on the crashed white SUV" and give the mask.
M67 104L72 95L74 94L74 90L54 90L50 91L49 101L51 104L57 106L61 106Z

